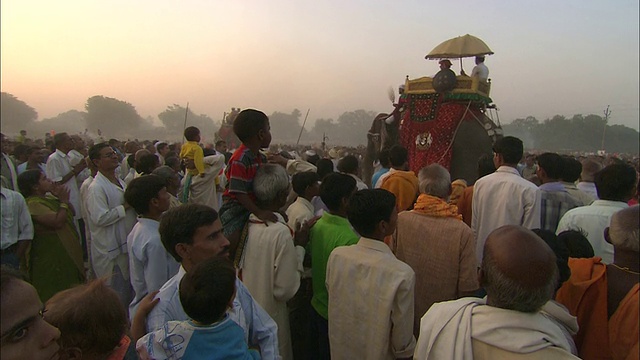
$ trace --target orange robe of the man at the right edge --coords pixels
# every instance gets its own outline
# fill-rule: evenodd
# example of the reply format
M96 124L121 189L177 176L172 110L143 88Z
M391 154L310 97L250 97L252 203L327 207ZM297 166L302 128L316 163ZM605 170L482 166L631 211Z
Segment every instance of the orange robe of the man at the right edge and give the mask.
M607 319L607 266L601 258L569 259L571 278L556 300L578 318L574 340L578 355L589 359L638 359L638 289L636 284Z

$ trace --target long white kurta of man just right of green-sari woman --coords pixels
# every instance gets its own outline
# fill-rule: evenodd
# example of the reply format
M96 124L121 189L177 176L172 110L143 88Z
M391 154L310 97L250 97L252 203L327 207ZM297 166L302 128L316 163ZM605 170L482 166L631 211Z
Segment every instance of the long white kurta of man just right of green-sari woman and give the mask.
M98 277L110 276L115 259L127 253L127 235L133 228L136 215L133 209L124 209L126 185L118 178L120 186L113 184L98 172L87 189L87 212L91 225L91 260ZM121 266L125 279L129 277L127 264ZM126 269L122 268L126 266Z

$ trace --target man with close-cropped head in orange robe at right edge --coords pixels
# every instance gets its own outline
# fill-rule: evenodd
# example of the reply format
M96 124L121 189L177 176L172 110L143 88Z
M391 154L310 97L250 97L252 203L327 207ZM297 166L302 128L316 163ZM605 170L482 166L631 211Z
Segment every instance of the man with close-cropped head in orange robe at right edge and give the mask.
M578 317L576 346L584 359L638 359L640 207L613 214L604 231L613 262L569 259L571 277L557 300Z

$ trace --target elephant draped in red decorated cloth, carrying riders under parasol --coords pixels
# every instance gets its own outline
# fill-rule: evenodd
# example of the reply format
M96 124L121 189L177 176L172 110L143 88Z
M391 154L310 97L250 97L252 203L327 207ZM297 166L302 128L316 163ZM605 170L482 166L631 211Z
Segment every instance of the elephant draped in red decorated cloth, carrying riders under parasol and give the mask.
M491 154L493 143L502 136L500 126L487 116L495 108L490 105L489 84L458 76L456 89L442 93L431 82L431 78L407 79L406 104L394 121L385 122L386 114L374 119L367 134L365 181L371 179L380 149L400 144L409 152L412 171L438 163L449 169L452 179L475 182L478 158Z

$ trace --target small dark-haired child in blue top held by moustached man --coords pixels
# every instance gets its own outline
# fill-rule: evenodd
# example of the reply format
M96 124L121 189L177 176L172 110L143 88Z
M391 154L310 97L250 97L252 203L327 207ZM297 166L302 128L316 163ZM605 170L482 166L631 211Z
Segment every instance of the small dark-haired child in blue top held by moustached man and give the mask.
M141 359L260 359L242 328L227 315L235 296L233 264L221 256L193 267L180 281L180 302L191 320L169 321L137 343Z

